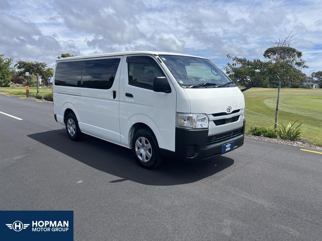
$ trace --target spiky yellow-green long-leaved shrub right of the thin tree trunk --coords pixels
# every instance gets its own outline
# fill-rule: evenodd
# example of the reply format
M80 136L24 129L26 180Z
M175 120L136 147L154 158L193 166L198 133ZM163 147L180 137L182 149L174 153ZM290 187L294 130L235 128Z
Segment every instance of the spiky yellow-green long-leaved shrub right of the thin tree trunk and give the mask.
M302 123L300 123L296 127L295 123L296 121L293 124L289 122L289 124L286 126L284 123L280 122L277 125L277 129L275 129L275 131L277 132L277 138L290 141L298 141L304 139L303 137L301 137L301 134L305 132L300 129Z

